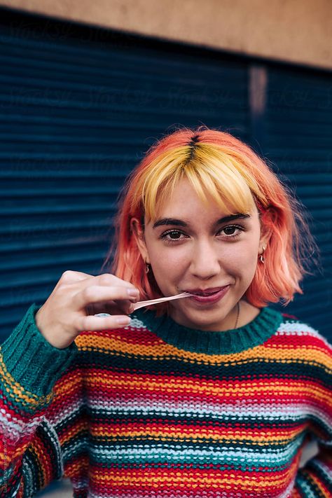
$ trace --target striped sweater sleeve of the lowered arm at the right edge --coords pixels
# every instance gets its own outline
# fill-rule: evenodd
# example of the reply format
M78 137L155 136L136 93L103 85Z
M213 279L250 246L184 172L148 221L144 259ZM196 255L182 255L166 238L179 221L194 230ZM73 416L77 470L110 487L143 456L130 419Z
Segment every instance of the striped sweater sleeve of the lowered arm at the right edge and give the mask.
M319 380L308 400L309 431L319 452L298 470L292 498L332 497L332 347L321 338L326 361L317 361Z

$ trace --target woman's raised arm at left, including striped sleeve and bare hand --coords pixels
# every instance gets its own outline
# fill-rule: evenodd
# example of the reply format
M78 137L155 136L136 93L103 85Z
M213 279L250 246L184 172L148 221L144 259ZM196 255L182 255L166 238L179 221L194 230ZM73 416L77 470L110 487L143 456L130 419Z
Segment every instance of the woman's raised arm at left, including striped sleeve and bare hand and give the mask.
M74 424L82 445L86 433L84 422L78 420L83 417L83 394L74 340L81 331L129 324L127 313L138 298L139 291L130 282L114 275L95 277L67 270L46 303L32 305L4 342L0 350L1 497L32 496L62 477L76 451L80 452L76 473L87 474L80 445L68 450L72 431L70 436L57 434L61 424ZM95 317L99 311L110 315ZM66 433L63 427L60 432ZM61 437L67 437L64 457ZM70 473L70 462L68 468Z

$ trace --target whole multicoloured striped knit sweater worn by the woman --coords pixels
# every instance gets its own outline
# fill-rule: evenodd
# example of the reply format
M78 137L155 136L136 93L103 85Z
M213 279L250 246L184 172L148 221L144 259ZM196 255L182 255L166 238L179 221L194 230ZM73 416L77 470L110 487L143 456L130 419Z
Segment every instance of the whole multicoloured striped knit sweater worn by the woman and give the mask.
M264 307L195 331L140 310L58 350L38 309L1 347L1 497L62 476L76 498L332 497L332 349L309 325Z

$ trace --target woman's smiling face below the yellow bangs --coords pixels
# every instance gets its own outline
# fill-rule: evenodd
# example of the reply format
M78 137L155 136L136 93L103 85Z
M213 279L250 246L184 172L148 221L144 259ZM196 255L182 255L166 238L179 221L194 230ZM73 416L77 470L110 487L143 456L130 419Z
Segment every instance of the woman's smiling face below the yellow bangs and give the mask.
M184 326L234 328L235 306L254 278L262 250L258 211L255 207L250 216L232 221L222 221L225 216L214 200L206 205L183 179L138 240L164 296L195 293L170 303L171 317Z

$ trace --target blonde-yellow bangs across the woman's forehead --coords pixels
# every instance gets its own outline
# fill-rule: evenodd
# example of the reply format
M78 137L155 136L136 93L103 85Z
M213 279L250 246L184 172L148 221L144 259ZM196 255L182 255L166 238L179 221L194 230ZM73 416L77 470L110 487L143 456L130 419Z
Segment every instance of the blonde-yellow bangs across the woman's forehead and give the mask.
M158 218L160 208L182 179L188 179L203 202L214 200L225 214L249 213L255 207L253 195L264 198L254 177L218 146L198 144L191 160L188 146L183 146L168 151L150 165L141 190L141 206L147 221Z

